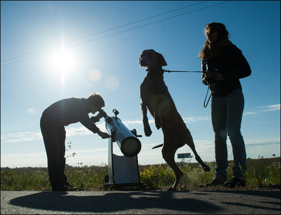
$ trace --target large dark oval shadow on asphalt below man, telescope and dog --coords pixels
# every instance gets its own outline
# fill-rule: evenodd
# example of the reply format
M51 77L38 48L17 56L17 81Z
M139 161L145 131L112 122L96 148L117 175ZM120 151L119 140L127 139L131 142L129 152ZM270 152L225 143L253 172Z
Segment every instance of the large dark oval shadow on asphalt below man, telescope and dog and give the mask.
M94 195L81 196L78 193L81 194L81 192L38 192L14 198L10 203L42 210L96 213L148 208L199 213L214 213L221 210L214 204L192 198L192 195L190 197L175 198L173 197L173 192L131 191L106 192L105 194L100 192L100 195L95 192Z

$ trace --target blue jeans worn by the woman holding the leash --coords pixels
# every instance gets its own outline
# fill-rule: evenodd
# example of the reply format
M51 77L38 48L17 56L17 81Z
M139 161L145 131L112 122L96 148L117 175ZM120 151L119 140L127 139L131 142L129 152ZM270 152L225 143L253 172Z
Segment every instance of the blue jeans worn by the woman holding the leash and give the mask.
M215 133L216 159L214 178L221 182L227 181L226 135L229 136L232 145L234 160L234 166L232 168L233 176L245 179L246 150L240 132L243 109L244 96L241 88L232 91L224 97L212 96L211 98L211 119Z

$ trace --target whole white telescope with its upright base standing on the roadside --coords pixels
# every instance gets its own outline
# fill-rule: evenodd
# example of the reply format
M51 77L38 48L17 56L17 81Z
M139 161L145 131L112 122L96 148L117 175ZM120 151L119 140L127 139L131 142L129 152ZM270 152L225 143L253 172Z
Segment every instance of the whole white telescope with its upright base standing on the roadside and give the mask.
M137 137L136 130L129 130L117 117L119 112L113 109L115 116L109 117L102 109L99 110L105 119L105 127L110 135L108 140L108 175L105 175L107 188L114 186L141 186L138 171L137 154L142 144ZM116 142L124 156L113 153L113 142Z

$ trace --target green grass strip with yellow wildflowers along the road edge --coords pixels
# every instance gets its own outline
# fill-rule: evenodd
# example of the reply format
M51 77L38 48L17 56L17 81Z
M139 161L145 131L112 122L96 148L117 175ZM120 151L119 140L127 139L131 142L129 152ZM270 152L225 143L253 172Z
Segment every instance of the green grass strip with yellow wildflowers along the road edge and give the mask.
M214 162L207 162L211 171L205 172L198 163L179 163L184 173L179 188L188 190L210 182L214 177ZM232 177L233 161L229 161L227 175ZM97 190L104 184L108 174L107 165L100 166L66 166L65 174L76 190ZM174 184L175 174L167 164L139 165L139 176L146 188L167 188ZM246 185L280 186L280 157L247 159ZM1 190L50 190L48 169L44 167L2 168Z

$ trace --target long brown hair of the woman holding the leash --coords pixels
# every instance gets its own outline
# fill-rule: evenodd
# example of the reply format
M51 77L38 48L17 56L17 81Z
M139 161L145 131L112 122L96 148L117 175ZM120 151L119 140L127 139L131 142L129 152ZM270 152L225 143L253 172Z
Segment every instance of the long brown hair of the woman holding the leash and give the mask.
M206 41L204 43L203 49L199 53L198 58L204 58L206 50L210 49L210 43L207 39L207 34L209 34L210 32L212 32L212 33L217 32L218 33L219 38L218 38L217 42L220 42L220 41L225 40L225 39L228 40L229 33L226 30L225 25L223 25L222 23L208 23L204 28L204 35L206 37Z

